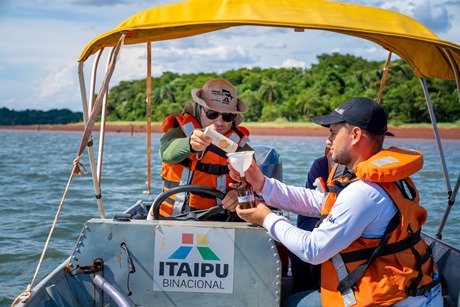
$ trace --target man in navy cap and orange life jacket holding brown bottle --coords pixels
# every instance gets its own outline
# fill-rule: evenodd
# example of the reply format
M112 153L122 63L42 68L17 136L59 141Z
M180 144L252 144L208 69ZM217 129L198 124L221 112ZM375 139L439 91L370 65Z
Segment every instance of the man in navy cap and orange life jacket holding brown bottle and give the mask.
M346 167L341 177L331 170L327 184L295 187L252 163L245 178L271 207L319 217L316 227L299 229L263 202L227 207L303 261L321 264L320 291L296 293L286 306L442 306L433 255L420 237L427 212L409 178L422 168L422 154L383 148L387 115L369 98L351 98L312 120L329 128L331 159ZM239 181L231 167L230 176Z

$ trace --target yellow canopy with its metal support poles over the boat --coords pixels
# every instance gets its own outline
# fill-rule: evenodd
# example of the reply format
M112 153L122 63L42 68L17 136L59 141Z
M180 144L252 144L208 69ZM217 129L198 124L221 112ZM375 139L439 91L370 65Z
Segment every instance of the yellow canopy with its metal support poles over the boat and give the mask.
M375 22L376 20L378 20L378 23ZM456 80L460 100L460 46L439 39L430 29L418 21L389 10L325 0L316 0L314 2L297 0L212 0L211 2L209 0L188 0L140 11L110 31L94 38L85 46L78 59L78 73L83 112L85 114L85 133L80 144L80 151L82 151L84 143L91 139L92 126L94 125L95 116L99 114L99 105L102 102L102 100L99 102L100 96L104 97L104 101L107 98L108 81L113 72L113 69L108 66L104 83L95 101L95 107L90 108L90 114L83 78L83 63L88 57L95 53L98 54L98 57L105 47L113 47L113 56L111 56L112 59L109 62L111 62L110 65L114 66L119 52L116 50L121 48L123 44L147 43L147 62L148 69L150 69L150 44L153 42L190 37L237 26L282 27L291 28L300 33L306 29L340 33L363 38L388 50L390 55L387 63L390 60L391 53L397 54L408 62L413 72L419 77L422 85L446 182L448 206L437 234L437 237L441 238L442 229L458 193L460 174L452 190L441 137L425 78ZM98 60L95 61L96 66L97 63ZM93 69L92 87L94 87L96 80L95 71L96 69ZM384 71L385 73L386 71ZM151 81L150 74L151 72L148 71L148 87L151 86L149 83ZM384 84L382 84L379 91L378 100L381 99L383 86ZM150 90L150 88L147 89L147 109L150 109ZM93 95L94 90L91 89L90 102L93 100ZM103 103L102 109L103 122L101 126L105 126L105 103ZM150 119L147 118L147 121L148 128L150 128ZM103 135L103 131L101 127L101 135ZM92 142L89 144L92 144ZM92 148L89 149L90 163L94 164L92 150ZM79 154L81 154L80 151ZM93 175L95 195L98 199L100 214L103 216L104 209L100 191L102 148L99 149L99 155L97 170L94 170L94 166L91 169L93 173L96 172L96 175ZM150 157L147 158L147 165L150 168ZM147 170L147 176L147 191L145 191L145 194L149 195L151 184L150 169Z

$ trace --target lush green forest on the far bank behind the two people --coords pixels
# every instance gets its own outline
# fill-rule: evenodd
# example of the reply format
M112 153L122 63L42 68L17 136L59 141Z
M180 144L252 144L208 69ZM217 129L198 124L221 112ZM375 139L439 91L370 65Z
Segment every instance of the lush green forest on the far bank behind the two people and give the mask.
M232 82L238 96L249 105L249 122L309 121L311 116L330 112L342 101L356 96L375 98L380 88L384 62L367 61L338 53L318 56L318 63L301 68L240 68L222 74L176 74L166 72L152 79L152 120L179 113L190 101L190 91L212 77ZM460 104L454 81L427 80L436 118L458 122ZM123 81L108 97L112 121L145 119L145 79ZM420 80L402 60L392 61L382 104L390 122L430 122Z

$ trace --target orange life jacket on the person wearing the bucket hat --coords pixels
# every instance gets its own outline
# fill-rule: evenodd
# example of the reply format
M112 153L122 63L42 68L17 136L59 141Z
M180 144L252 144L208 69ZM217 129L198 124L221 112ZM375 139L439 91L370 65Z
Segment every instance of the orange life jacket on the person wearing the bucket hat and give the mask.
M202 128L198 120L189 113L170 115L162 123L162 129L167 132L173 127L181 127L186 136L193 130ZM249 131L244 127L232 128L225 134L226 137L243 147L249 140ZM179 185L202 185L214 188L225 193L228 184L233 182L229 176L226 152L211 144L199 159L198 154L191 154L179 163L162 163L161 177L163 191ZM186 199L188 197L188 199ZM191 209L208 209L216 205L216 199L204 194L179 193L167 198L160 206L160 215L170 216L181 213L184 205Z

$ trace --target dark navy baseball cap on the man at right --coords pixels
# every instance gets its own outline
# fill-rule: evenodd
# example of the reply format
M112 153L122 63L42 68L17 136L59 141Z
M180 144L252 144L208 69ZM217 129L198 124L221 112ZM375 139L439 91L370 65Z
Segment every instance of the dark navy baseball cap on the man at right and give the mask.
M323 127L347 122L377 135L394 136L388 132L385 109L376 101L365 97L348 99L330 114L314 116L311 120Z

